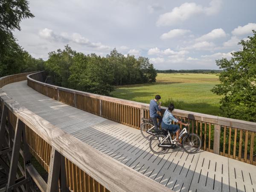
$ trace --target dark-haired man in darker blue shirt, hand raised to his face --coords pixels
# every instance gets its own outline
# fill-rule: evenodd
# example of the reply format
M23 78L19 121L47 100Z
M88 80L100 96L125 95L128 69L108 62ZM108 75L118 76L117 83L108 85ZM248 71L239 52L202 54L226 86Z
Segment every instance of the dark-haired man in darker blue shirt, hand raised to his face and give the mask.
M160 110L161 110L161 102L159 103L159 105L157 105L157 102L159 101L159 99L161 99L161 96L156 95L155 99L150 100L150 104L149 104L149 116L154 123L155 130L159 129L159 125L161 124L162 119L163 119L162 116L157 114L157 111L160 112ZM159 119L158 124L157 124L157 119Z

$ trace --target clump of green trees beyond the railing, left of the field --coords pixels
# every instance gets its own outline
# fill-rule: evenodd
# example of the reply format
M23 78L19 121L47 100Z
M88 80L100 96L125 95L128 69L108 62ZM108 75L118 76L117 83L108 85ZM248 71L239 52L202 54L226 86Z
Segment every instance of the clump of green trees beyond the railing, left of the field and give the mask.
M157 76L148 58L125 56L116 49L101 57L76 52L67 45L49 52L44 66L55 85L101 95L109 95L117 85L155 82Z

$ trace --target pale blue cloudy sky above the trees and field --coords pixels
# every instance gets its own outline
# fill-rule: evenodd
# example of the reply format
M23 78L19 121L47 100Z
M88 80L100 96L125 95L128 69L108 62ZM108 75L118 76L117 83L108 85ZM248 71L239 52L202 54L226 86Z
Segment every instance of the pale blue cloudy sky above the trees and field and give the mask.
M148 57L156 69L218 69L256 30L255 0L30 1L14 35L35 58L64 45L84 54Z

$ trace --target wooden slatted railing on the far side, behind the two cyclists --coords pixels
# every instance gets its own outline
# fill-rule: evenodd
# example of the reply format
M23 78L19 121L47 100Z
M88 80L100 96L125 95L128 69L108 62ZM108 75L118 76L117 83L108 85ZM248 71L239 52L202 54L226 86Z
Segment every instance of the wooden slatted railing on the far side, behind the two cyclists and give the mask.
M43 72L29 75L27 84L52 99L81 110L140 128L141 118L149 118L149 105L67 89L41 82ZM162 108L163 114L166 108ZM190 122L189 131L200 135L202 149L256 165L256 123L175 109L174 115Z

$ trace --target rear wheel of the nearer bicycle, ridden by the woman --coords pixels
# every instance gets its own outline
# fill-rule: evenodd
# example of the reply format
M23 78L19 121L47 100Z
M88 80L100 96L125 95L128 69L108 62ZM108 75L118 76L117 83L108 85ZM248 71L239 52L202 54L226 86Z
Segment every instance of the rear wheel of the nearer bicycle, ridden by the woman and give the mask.
M159 147L158 144L162 143L162 140L164 140L166 138L166 135L162 135L162 134L157 134L154 135L150 138L149 141L149 147L151 149L151 151L153 153L156 154L165 154L169 151L168 147ZM170 145L170 141L168 139L166 139L163 144L169 144Z

